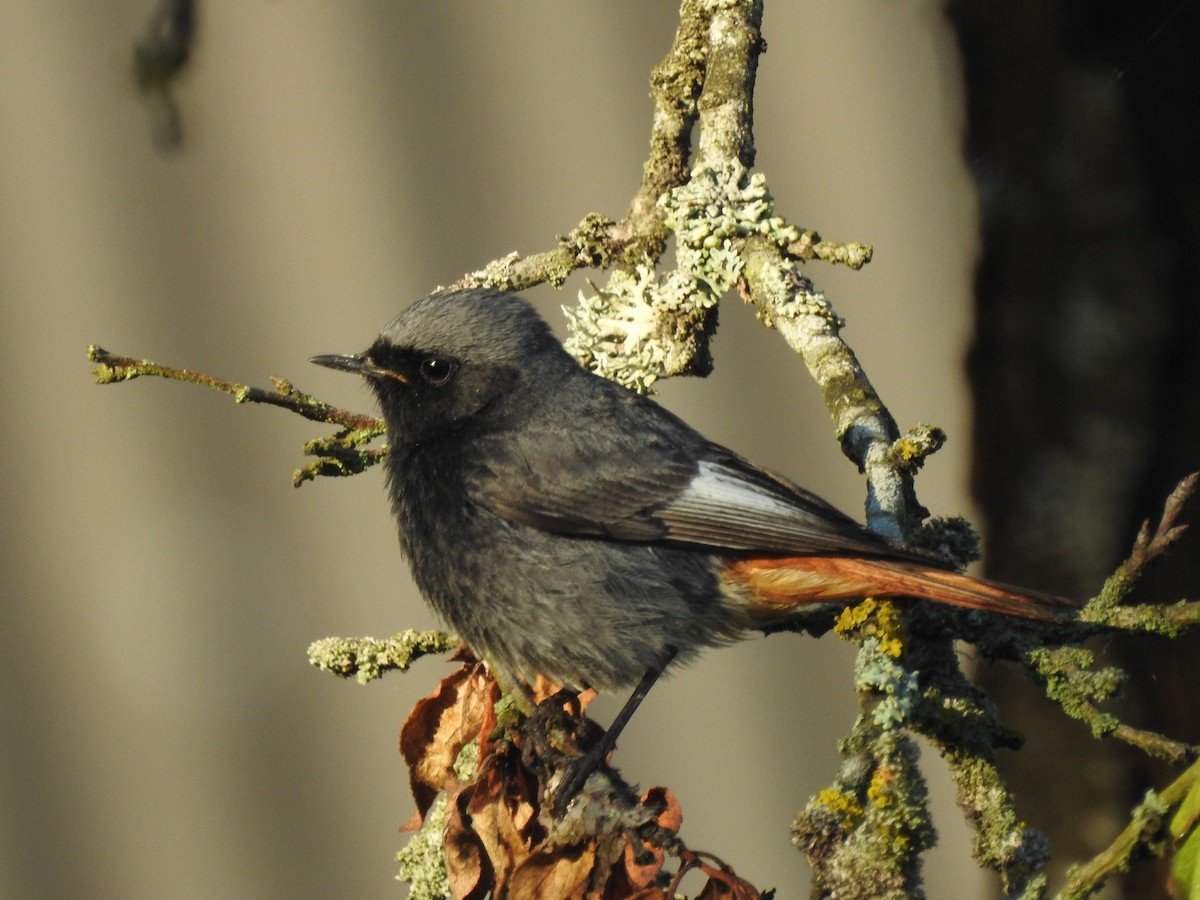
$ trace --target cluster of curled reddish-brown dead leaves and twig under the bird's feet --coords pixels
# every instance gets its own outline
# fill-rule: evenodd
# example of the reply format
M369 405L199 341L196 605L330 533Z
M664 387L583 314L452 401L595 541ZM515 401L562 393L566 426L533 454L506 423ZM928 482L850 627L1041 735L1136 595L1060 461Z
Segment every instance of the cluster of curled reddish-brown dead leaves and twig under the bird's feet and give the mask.
M678 836L683 812L665 787L637 794L608 766L584 784L566 814L551 815L553 788L595 740L589 697L538 685L529 715L497 714L505 702L486 666L466 650L458 667L420 700L401 730L419 828L445 794L443 835L455 898L481 900L668 900L689 871L707 876L698 898L767 896ZM503 721L502 721L503 720ZM478 748L474 773L464 751ZM676 860L673 870L665 866Z

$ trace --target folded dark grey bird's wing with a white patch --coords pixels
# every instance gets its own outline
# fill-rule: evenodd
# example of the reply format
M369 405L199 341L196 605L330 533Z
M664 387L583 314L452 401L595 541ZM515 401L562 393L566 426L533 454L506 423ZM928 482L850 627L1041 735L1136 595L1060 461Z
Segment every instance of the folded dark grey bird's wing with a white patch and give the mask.
M647 415L649 413L649 415ZM498 436L468 476L476 503L557 534L716 551L910 557L815 494L701 438L656 404L616 427ZM622 427L625 426L625 427Z

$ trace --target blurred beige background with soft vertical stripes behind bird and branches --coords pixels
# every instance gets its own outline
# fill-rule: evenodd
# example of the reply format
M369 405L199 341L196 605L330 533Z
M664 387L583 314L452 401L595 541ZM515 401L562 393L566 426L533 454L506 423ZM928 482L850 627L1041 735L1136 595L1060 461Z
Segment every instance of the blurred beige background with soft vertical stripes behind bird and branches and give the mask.
M378 470L290 486L322 430L156 379L92 384L90 343L341 406L307 364L488 260L624 214L674 2L204 2L156 151L131 59L150 0L0 0L0 896L403 896L401 722L449 666L367 688L308 642L434 624ZM809 274L907 427L950 436L918 482L972 514L964 367L976 191L940 2L768 4L757 166L781 215L875 245ZM558 324L582 276L529 293ZM803 367L728 302L716 372L660 400L859 514L863 484ZM660 685L622 742L684 839L800 896L787 827L832 780L852 648L775 636ZM616 698L608 700L611 714ZM989 895L940 761L932 896Z

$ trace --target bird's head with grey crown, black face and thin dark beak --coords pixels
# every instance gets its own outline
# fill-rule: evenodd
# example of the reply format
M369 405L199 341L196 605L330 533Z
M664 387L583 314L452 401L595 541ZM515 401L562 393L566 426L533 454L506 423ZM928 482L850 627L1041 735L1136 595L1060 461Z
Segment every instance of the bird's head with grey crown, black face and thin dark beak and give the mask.
M535 396L523 385L580 371L528 304L484 289L431 294L365 353L312 361L367 379L392 444L511 425Z

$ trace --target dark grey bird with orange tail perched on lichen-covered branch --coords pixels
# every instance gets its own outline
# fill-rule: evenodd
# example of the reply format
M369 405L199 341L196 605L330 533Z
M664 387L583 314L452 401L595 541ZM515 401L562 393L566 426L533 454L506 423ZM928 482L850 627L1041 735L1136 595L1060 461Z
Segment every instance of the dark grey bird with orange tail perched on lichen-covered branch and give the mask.
M371 386L413 578L506 685L636 684L636 708L668 665L811 604L1073 608L960 575L708 440L581 366L512 293L437 290L365 352L312 362Z

